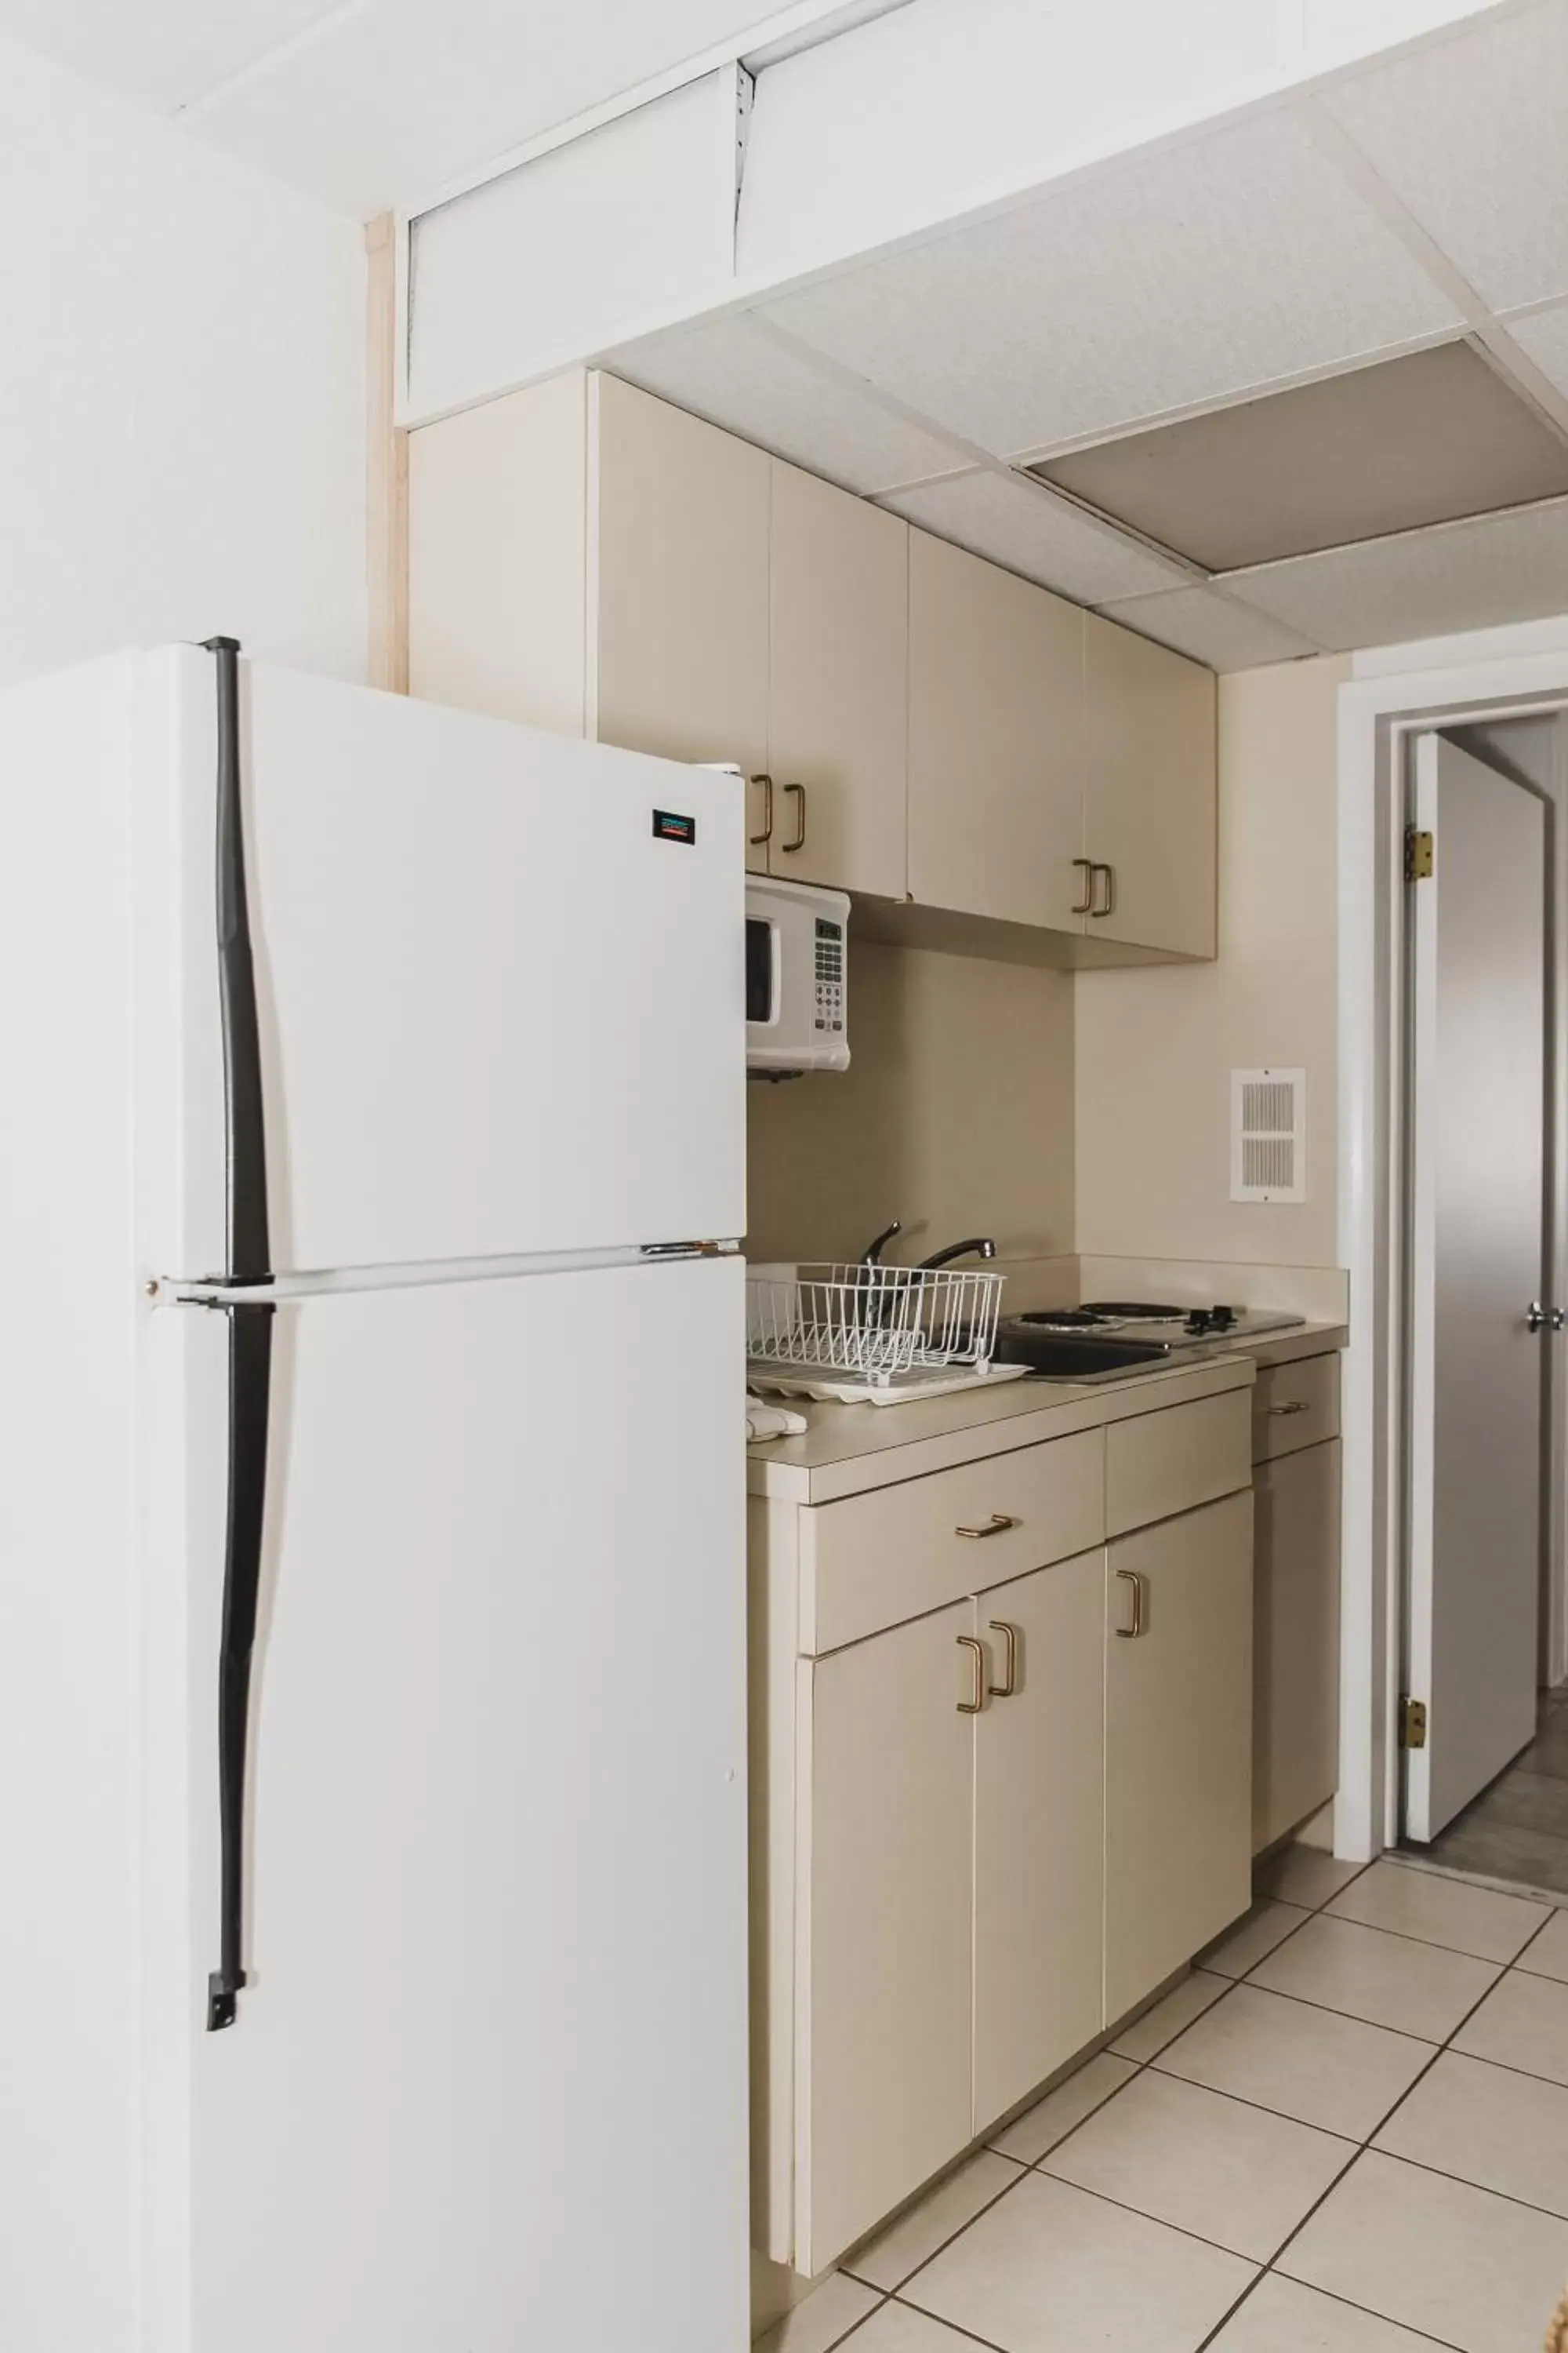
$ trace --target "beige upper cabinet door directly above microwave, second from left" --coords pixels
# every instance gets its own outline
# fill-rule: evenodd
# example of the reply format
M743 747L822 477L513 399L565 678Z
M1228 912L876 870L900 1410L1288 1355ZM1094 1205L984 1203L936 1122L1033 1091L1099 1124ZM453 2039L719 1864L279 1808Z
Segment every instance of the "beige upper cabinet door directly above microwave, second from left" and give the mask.
M907 522L773 461L769 871L788 882L905 894L907 565Z

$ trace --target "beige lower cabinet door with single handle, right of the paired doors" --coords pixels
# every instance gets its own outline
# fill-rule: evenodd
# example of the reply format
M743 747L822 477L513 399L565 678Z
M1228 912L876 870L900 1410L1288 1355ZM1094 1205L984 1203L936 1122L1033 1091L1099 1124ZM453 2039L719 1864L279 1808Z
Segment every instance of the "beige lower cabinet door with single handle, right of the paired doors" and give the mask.
M1251 1901L1253 1499L1107 1551L1105 2019Z

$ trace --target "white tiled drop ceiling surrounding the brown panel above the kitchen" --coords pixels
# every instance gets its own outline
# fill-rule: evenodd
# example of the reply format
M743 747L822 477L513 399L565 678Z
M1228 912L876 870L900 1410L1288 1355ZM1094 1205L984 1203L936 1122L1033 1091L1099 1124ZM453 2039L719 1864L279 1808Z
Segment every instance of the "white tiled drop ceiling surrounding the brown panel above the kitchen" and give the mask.
M1556 296L1568 0L1535 0L607 365L1232 671L1568 612L1568 501L1211 584L1009 468L1455 334L1568 440Z

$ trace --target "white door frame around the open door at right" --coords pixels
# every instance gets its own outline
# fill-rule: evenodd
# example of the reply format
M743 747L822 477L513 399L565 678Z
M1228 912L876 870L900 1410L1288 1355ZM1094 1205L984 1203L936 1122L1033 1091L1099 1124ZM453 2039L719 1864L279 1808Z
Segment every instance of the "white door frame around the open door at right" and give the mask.
M1340 1264L1349 1273L1352 1332L1342 1360L1342 1635L1340 1791L1335 1854L1366 1861L1399 1840L1399 1673L1406 1562L1406 1106L1408 1028L1403 831L1410 741L1448 727L1568 711L1568 626L1523 624L1425 647L1354 656L1340 687ZM1568 734L1568 729L1566 729ZM1554 826L1561 901L1568 835L1568 751L1559 744ZM1549 944L1556 1002L1568 1007L1568 925ZM1552 1132L1568 1174L1568 1056L1556 1054ZM1568 1280L1568 1217L1559 1181L1549 1280ZM1568 1664L1566 1487L1568 1417L1559 1367L1549 1414L1549 1659Z

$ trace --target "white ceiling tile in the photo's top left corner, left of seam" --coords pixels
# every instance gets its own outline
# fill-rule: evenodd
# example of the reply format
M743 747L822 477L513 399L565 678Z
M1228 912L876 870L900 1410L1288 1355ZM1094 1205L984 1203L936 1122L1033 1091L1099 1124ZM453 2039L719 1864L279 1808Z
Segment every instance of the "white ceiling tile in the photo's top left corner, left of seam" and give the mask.
M0 0L0 33L169 113L331 16L341 0Z

